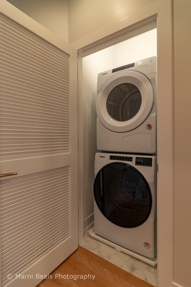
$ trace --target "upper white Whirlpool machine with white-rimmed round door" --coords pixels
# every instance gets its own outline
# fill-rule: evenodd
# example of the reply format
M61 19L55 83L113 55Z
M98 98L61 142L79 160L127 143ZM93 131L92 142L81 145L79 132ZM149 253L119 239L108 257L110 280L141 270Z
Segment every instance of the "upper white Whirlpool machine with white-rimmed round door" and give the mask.
M98 74L98 150L157 152L156 81L156 57Z

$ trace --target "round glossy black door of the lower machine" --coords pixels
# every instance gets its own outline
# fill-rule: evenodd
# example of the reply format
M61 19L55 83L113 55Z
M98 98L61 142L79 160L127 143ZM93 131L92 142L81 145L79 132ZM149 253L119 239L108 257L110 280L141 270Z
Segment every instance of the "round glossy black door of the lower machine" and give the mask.
M99 210L115 225L133 228L147 220L152 207L150 187L134 167L120 162L106 165L93 189Z

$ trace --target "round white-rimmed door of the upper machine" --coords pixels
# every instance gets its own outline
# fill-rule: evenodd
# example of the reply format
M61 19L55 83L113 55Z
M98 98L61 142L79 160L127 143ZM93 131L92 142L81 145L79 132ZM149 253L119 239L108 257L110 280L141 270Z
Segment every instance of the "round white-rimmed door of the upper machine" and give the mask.
M146 120L153 100L153 88L147 77L136 71L118 72L98 92L98 119L113 132L129 132Z

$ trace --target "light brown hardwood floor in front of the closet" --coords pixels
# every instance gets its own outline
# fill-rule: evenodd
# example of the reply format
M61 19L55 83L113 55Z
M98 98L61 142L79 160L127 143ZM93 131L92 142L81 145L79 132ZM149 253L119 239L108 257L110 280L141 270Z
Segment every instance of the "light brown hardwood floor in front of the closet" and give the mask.
M78 286L153 287L81 246L36 287Z

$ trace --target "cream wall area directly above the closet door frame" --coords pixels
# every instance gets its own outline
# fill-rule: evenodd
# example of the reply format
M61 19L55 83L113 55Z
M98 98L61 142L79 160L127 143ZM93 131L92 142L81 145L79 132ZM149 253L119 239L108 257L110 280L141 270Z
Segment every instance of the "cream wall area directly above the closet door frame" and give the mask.
M157 0L70 0L69 44L130 16Z

